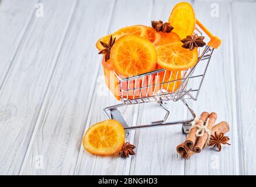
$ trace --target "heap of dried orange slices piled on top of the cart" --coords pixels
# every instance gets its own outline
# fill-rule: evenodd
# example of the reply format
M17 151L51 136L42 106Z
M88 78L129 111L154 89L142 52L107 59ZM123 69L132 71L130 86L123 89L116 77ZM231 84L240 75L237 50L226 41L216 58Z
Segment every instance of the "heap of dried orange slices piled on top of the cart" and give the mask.
M166 24L161 21L155 23L160 23L160 27L155 29L144 25L123 27L99 39L96 47L103 54L110 53L106 60L119 75L138 75L159 67L169 71L186 70L195 65L198 57L196 48L185 49L181 42L181 39L191 36L195 29L192 6L187 2L177 4L168 22L173 29L171 32L161 30L161 24ZM115 38L115 43L105 47L111 36Z

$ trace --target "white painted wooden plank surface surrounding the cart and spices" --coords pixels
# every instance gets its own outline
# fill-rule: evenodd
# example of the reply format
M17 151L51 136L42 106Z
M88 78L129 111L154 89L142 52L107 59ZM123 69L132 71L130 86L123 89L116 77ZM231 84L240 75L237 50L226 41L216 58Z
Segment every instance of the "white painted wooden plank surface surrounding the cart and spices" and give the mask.
M0 1L0 174L6 175L248 175L256 174L256 1L192 1L196 16L219 36L198 101L230 123L232 146L207 148L183 160L181 126L131 132L134 157L88 154L84 131L118 103L103 83L99 37L120 27L167 20L171 0ZM212 6L219 17L212 17ZM38 6L44 7L37 17ZM170 103L172 119L188 117ZM130 125L160 119L154 103L123 110Z

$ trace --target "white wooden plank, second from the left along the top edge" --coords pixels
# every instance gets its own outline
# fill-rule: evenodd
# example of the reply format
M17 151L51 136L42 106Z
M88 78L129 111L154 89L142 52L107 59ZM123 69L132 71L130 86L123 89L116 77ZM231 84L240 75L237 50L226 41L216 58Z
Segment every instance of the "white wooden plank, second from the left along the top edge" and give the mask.
M1 174L19 174L75 6L41 3L44 16L33 16L0 91L0 103L8 106L0 126Z

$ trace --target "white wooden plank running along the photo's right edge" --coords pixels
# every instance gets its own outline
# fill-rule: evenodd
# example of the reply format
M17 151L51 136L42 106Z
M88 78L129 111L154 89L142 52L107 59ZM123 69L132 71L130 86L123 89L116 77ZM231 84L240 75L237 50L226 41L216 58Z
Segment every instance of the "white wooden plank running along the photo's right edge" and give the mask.
M234 44L234 80L237 98L237 124L239 133L240 160L244 170L241 174L256 174L254 124L256 71L255 30L256 2L234 2L232 6L233 44ZM244 165L243 165L244 164Z

